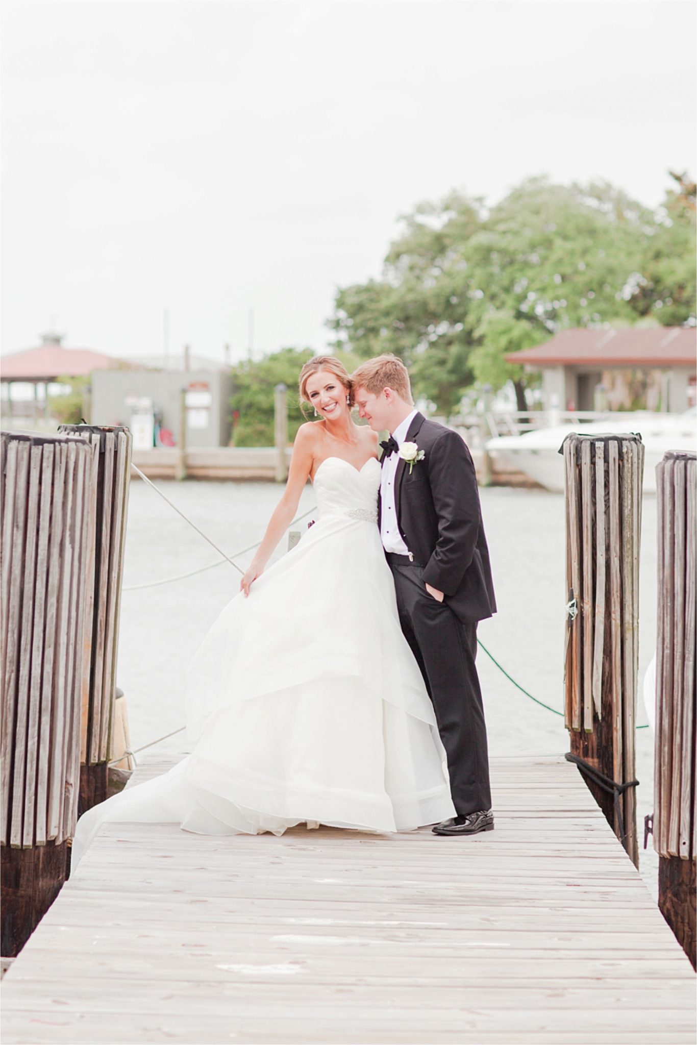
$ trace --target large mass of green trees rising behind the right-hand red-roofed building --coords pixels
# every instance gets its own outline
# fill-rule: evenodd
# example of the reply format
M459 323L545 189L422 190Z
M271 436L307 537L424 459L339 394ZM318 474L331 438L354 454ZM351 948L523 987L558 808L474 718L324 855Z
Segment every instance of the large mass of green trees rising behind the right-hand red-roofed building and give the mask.
M631 325L637 312L682 323L694 311L694 186L678 188L658 215L607 183L544 178L488 212L460 193L420 204L381 279L339 291L338 344L362 357L395 352L416 394L446 414L477 381L511 380L525 410L538 378L507 363L512 352L567 327Z

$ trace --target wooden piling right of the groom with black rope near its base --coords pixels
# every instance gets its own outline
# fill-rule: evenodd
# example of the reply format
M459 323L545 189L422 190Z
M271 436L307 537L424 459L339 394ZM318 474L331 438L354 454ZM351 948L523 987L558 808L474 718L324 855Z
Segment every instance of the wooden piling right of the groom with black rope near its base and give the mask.
M566 489L565 723L570 759L627 853L636 845L635 701L641 436L574 433L562 446Z

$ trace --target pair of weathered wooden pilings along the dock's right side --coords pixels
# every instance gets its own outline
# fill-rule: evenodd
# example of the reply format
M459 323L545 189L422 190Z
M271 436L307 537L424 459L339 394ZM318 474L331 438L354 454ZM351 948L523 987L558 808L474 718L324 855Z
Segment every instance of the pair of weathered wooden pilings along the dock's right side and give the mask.
M638 864L634 798L641 436L570 435L566 490L565 721L571 753ZM657 468L658 633L654 846L658 906L686 953L695 945L695 552L697 463Z

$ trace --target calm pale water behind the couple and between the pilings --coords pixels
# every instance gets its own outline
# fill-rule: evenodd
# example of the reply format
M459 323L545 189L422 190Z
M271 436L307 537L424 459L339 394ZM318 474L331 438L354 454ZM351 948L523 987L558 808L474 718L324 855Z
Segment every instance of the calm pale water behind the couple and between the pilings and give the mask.
M160 489L228 554L259 540L281 489L266 483L167 483ZM544 703L563 705L564 502L542 490L481 491L498 612L479 636L513 678ZM311 509L306 488L299 511ZM299 524L304 527L306 520ZM283 545L285 547L285 545ZM279 548L277 554L281 554ZM239 557L246 567L253 552ZM131 487L124 586L171 577L217 555L145 484ZM311 583L312 579L308 578ZM139 747L184 724L183 674L239 575L227 563L172 584L126 590L121 609L118 684L127 699L131 739ZM640 593L640 679L654 652L656 502L644 500ZM484 653L479 657L490 752L559 754L568 750L563 720L528 700ZM640 686L637 721L646 721ZM652 809L653 733L636 734L637 825ZM181 749L182 737L165 747ZM655 895L657 861L649 845L642 874Z

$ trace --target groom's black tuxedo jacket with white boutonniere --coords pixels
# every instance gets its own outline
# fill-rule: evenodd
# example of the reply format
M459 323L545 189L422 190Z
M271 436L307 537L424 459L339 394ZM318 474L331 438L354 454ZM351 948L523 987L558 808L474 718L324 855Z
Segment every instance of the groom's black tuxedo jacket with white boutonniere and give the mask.
M461 436L417 414L408 442L423 450L411 473L397 465L395 506L404 543L466 624L496 611L474 463ZM381 503L378 501L378 518Z

